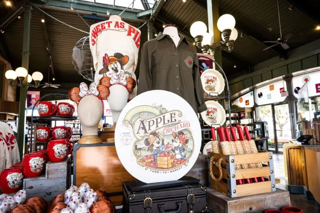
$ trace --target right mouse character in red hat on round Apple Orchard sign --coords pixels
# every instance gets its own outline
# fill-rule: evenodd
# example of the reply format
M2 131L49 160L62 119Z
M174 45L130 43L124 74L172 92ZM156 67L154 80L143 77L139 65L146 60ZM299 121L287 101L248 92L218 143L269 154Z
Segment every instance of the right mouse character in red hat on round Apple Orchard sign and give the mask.
M185 133L179 131L178 134L172 133L172 151L176 154L176 159L183 159L186 157L186 153L184 152L184 148L188 147L189 139L186 138Z

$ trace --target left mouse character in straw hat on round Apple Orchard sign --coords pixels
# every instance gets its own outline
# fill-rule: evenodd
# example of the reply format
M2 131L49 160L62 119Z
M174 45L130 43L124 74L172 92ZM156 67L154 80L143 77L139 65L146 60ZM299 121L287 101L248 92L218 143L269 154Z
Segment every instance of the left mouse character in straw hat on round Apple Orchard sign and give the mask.
M144 144L148 146L148 150L154 149L153 152L154 161L157 163L157 155L161 154L162 150L164 149L164 133L161 132L159 134L156 132L151 132L149 137L145 139Z

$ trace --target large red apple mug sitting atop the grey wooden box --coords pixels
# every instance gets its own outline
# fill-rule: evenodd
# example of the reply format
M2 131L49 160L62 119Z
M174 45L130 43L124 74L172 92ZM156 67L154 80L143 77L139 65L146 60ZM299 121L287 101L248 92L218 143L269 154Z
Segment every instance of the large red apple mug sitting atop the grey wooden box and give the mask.
M47 150L51 162L60 162L72 152L72 145L65 139L52 140L48 143Z

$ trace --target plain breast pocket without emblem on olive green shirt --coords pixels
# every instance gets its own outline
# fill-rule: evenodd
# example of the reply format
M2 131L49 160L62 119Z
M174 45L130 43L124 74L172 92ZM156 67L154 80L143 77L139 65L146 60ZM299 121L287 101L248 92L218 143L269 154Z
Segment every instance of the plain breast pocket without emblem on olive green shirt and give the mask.
M153 70L158 72L160 70L168 69L172 67L172 57L169 49L161 49L152 53L154 58Z

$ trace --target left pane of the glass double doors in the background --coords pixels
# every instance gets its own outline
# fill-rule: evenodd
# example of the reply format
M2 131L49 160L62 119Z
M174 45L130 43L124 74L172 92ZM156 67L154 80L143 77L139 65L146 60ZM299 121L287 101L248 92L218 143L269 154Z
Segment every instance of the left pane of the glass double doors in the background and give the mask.
M268 151L276 152L272 105L260 106L258 110L260 120L268 122Z

